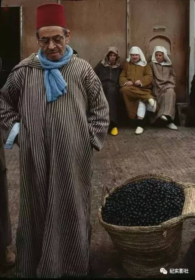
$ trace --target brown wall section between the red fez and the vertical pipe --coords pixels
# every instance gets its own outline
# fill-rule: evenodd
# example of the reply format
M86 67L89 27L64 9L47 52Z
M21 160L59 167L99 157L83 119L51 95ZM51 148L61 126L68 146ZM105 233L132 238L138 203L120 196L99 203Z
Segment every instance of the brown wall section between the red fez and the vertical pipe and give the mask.
M66 9L69 45L94 67L107 47L126 58L126 0L61 0Z

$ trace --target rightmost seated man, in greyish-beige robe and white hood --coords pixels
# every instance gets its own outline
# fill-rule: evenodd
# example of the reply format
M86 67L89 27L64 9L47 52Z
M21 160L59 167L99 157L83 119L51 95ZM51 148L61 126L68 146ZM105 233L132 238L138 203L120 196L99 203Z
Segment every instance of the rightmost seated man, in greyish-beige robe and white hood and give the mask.
M164 47L156 46L149 63L153 72L153 95L158 102L158 113L151 116L153 124L158 118L166 122L166 127L177 130L173 123L176 103L176 74Z

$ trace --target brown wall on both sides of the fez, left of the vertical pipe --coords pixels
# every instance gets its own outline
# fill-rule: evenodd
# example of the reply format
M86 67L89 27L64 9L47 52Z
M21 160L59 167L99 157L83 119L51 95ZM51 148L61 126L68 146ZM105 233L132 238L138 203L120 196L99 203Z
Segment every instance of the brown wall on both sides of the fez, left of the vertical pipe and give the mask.
M23 59L37 52L35 38L36 7L57 0L2 0L2 6L22 5ZM126 0L63 1L67 27L72 33L69 45L93 67L103 58L108 46L116 46L123 59L126 57Z

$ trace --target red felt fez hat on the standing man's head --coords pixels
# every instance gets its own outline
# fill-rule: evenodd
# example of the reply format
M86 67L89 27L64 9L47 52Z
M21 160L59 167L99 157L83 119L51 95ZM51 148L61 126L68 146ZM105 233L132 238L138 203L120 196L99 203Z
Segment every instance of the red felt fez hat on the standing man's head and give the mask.
M37 29L43 26L66 27L66 16L63 5L50 3L37 7Z

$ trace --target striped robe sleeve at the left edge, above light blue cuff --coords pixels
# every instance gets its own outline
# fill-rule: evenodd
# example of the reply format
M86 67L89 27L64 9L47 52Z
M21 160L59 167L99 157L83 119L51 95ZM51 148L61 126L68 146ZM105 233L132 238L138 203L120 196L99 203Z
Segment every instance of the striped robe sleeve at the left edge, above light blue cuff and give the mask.
M20 89L18 83L15 82L14 72L9 75L5 85L0 90L0 129L4 143L14 125L20 123L18 111Z

